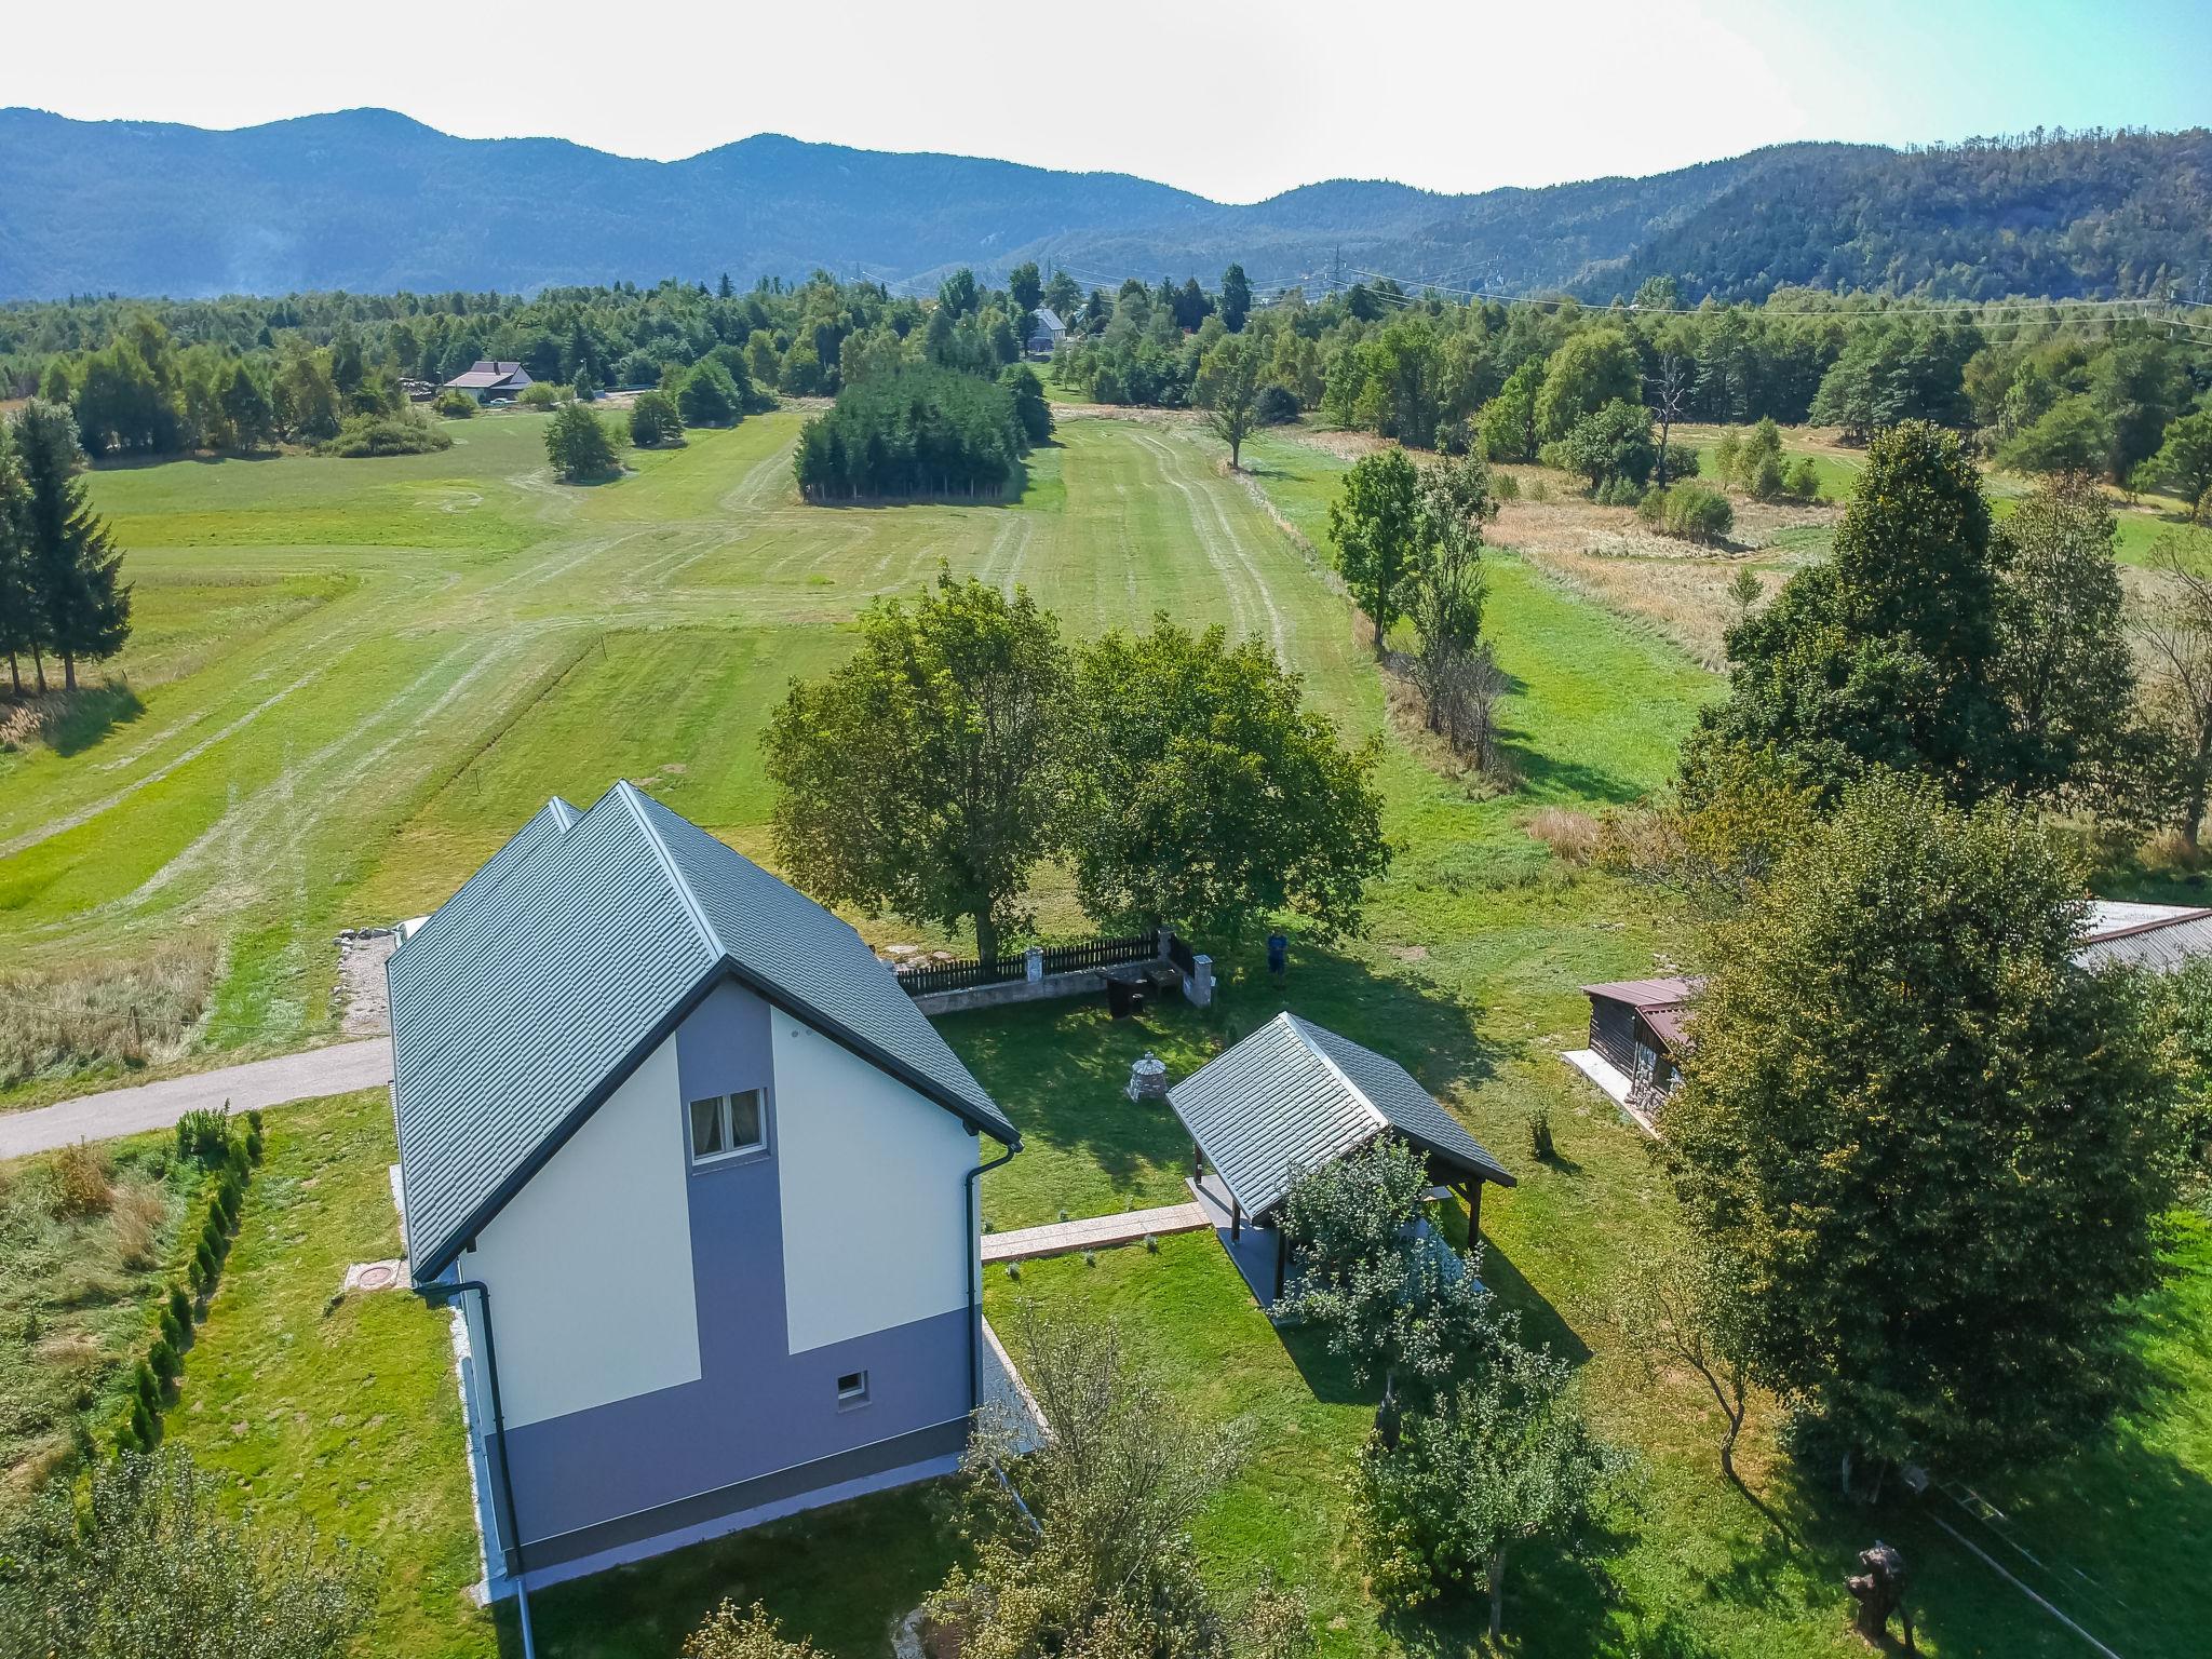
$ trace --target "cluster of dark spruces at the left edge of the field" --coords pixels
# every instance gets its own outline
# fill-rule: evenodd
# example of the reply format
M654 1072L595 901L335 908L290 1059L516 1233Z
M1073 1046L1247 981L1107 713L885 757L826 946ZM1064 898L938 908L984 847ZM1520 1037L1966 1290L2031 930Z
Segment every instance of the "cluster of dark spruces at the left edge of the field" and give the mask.
M77 664L102 661L131 635L131 586L106 522L84 498L69 409L33 398L0 425L0 650L9 690L24 695L22 657L46 690L46 657L62 659L64 690Z

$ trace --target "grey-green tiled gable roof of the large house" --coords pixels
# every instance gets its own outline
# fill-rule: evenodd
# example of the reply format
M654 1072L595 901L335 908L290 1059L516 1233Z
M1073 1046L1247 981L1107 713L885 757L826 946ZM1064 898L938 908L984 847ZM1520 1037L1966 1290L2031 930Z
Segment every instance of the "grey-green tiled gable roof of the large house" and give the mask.
M553 801L387 973L418 1279L442 1272L726 975L1020 1141L852 927L628 783L584 814Z

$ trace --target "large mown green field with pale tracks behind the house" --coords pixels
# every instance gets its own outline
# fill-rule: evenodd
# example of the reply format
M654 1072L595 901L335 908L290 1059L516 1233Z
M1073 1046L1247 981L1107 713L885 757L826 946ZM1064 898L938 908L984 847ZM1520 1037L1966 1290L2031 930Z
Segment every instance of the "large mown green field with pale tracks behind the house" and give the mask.
M1197 434L1075 420L1015 504L825 509L790 487L799 422L697 431L597 489L551 480L526 414L438 456L95 471L139 635L60 748L0 754L0 956L215 938L204 1051L334 1035L332 933L438 902L555 790L633 776L759 849L768 708L940 562L1075 635L1223 622L1378 721L1343 599Z

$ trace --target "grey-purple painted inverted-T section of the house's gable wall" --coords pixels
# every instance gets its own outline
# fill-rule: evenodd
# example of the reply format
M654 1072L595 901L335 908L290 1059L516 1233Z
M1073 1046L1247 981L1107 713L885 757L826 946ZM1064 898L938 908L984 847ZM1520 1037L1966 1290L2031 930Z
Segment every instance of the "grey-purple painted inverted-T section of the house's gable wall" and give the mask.
M677 1157L688 1159L686 1102L741 1088L768 1095L768 1157L699 1166L686 1181L701 1376L509 1429L524 1546L953 1422L969 1411L964 1310L807 1354L787 1352L776 1181L783 1102L774 1088L768 1022L761 998L723 982L677 1029L681 1102L668 1113ZM916 1110L933 1106L918 1099ZM856 1201L865 1203L865 1194ZM945 1206L958 1217L960 1192L947 1188ZM498 1287L491 1312L498 1321ZM869 1400L841 1409L836 1380L860 1369L869 1374Z

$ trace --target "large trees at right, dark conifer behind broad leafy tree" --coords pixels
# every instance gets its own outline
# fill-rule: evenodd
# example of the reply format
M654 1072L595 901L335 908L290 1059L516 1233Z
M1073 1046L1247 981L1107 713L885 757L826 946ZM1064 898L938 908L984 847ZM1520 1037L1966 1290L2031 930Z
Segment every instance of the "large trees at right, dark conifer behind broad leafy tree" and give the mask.
M1639 843L1688 880L1710 973L1663 1108L1686 1232L1624 1325L1703 1378L1723 1471L1752 1389L1860 1495L2053 1455L2124 1398L2212 1051L2179 980L2075 962L2077 825L2146 792L2201 816L2212 675L2174 677L2199 723L2161 726L2112 542L2095 478L1993 526L1958 434L1882 431L1834 557L1730 633ZM2212 664L2194 580L2154 628Z

